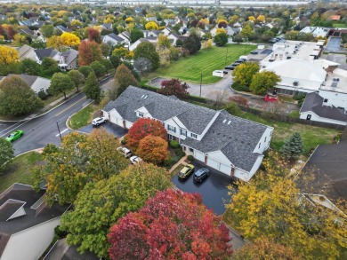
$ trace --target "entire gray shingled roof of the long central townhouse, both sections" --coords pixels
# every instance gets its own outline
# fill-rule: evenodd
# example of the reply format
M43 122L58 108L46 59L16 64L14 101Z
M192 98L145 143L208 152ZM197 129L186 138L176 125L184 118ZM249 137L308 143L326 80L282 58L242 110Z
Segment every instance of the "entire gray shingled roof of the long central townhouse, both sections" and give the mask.
M147 98L143 98L146 96ZM216 117L201 141L186 138L183 144L203 153L221 150L236 167L247 171L252 169L259 156L253 151L268 128L265 125L232 116L226 111L217 112L203 106L192 105L173 96L167 97L133 86L129 86L103 110L109 112L115 108L125 120L136 122L139 118L135 111L143 106L153 118L162 122L177 117L188 130L198 135L201 135Z

